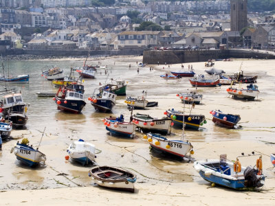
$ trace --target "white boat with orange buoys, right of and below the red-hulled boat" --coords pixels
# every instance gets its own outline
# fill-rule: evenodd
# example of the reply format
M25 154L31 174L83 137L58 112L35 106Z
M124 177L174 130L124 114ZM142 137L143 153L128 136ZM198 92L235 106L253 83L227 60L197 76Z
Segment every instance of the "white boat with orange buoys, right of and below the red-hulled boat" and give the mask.
M241 87L241 85L239 86ZM236 99L254 100L258 97L260 91L256 84L249 84L246 89L230 87L226 91Z

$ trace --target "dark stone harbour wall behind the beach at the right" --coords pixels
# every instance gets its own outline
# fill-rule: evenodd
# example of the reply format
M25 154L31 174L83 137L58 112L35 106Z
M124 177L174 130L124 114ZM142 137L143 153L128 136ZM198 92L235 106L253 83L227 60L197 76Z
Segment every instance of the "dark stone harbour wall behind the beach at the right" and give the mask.
M258 52L248 49L217 49L217 50L144 50L143 62L156 65L159 64L179 64L184 62L206 62L209 59L224 58L260 58L275 59L274 52Z

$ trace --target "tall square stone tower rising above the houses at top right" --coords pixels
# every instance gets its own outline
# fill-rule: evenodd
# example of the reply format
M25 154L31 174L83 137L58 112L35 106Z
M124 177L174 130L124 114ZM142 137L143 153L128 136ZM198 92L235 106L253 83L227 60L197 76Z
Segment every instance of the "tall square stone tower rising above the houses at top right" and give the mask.
M241 31L248 26L248 0L231 0L231 31Z

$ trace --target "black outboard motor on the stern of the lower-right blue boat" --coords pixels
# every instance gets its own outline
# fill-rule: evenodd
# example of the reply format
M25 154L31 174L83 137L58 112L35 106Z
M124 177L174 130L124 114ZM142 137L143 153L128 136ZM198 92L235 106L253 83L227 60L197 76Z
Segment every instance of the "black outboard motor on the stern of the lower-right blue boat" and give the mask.
M251 166L245 168L243 175L245 176L245 187L262 187L261 177L259 178L257 174L258 170L253 169Z

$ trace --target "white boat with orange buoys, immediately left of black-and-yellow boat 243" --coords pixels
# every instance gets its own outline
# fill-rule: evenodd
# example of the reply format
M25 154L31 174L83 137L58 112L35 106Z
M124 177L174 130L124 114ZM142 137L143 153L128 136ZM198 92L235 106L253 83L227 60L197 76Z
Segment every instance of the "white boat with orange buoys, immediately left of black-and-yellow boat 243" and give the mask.
M157 117L151 117L150 115L143 115L137 113L132 116L133 124L140 128L143 133L152 132L152 133L161 133L161 134L170 134L171 132L171 122L170 118L159 119Z

